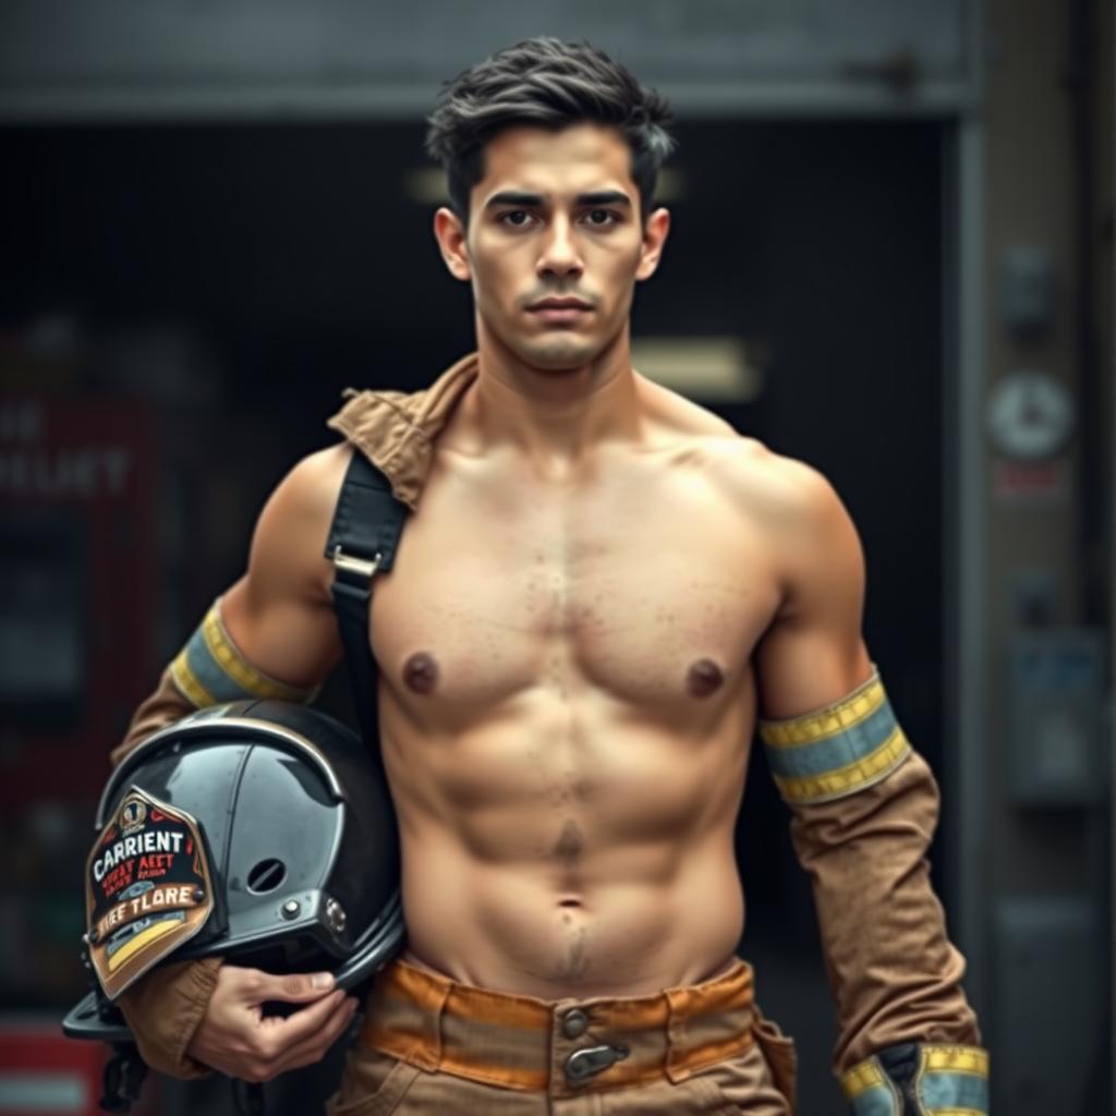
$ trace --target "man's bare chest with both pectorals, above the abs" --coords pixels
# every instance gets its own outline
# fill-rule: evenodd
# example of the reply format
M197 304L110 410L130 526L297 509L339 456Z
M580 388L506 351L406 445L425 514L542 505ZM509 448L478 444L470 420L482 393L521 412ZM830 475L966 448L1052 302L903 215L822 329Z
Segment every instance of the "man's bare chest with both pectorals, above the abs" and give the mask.
M373 648L431 727L531 691L716 704L777 607L772 565L700 469L637 461L547 485L435 468L376 579Z

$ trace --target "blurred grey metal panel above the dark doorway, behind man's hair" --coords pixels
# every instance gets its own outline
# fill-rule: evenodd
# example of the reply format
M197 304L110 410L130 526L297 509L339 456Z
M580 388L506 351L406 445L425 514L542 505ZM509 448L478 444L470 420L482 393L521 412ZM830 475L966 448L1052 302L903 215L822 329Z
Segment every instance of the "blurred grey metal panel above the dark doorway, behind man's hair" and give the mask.
M532 35L588 38L680 112L939 112L977 0L7 0L0 119L384 116Z

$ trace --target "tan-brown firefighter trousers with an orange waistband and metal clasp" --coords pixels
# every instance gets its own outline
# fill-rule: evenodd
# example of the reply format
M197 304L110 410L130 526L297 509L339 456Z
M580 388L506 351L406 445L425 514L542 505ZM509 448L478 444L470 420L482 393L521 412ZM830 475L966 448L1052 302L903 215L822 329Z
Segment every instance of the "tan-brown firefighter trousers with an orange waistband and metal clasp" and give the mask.
M376 977L326 1112L793 1116L795 1045L752 987L734 958L653 995L540 1000L396 959Z

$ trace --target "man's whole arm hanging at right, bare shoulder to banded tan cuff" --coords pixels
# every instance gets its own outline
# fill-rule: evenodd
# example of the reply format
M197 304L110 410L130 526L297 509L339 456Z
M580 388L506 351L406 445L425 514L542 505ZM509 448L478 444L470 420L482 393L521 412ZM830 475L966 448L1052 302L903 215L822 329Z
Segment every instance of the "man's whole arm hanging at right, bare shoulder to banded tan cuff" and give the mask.
M987 1112L988 1056L925 856L939 788L864 644L860 542L820 473L777 468L783 602L757 648L759 728L814 887L833 1067L856 1112Z

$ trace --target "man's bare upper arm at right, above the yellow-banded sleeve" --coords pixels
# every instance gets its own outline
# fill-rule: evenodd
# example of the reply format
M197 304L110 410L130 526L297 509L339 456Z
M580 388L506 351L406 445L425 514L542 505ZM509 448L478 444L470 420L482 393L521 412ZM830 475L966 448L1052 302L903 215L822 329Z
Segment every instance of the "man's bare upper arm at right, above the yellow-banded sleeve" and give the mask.
M760 715L800 716L872 674L862 634L865 564L852 518L829 482L788 462L788 513L778 540L783 602L756 652Z

